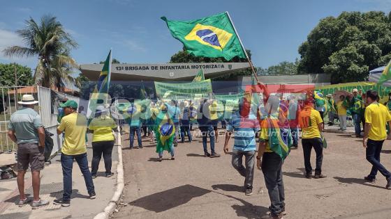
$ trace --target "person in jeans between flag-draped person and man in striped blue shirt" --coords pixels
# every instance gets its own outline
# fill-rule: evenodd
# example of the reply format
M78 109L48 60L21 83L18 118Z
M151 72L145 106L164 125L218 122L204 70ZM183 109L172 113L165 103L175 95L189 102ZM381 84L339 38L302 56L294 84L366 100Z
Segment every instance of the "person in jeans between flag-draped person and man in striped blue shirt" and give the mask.
M207 99L202 99L197 111L198 128L202 133L202 146L204 147L205 157L219 157L220 155L214 151L214 130L210 122L209 103ZM207 137L210 138L211 154L207 151Z

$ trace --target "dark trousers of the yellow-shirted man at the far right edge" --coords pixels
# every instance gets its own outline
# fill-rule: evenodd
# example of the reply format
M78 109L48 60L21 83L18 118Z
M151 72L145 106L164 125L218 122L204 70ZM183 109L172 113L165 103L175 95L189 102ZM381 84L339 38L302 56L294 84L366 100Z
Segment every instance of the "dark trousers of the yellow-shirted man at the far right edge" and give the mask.
M371 173L368 175L369 178L375 179L378 171L381 172L386 179L391 177L391 173L380 163L380 153L383 142L384 140L368 139L366 156L367 161L372 164Z

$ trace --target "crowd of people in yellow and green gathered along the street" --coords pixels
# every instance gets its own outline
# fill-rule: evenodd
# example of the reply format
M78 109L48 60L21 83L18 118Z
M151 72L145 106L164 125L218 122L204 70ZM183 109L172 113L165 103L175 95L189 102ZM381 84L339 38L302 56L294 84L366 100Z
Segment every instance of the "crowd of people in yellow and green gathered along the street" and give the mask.
M365 180L374 182L377 172L387 179L385 188L391 187L391 173L380 163L380 153L384 140L388 137L386 127L391 121L389 101L380 104L378 93L368 90L354 89L350 94L340 95L339 101L333 95L327 95L325 103L319 105L313 91L307 92L302 98L290 95L270 95L263 84L263 99L259 99L256 109L253 108L253 99L243 97L239 99L237 110L231 112L229 117L221 115L217 110L214 99L202 99L195 106L194 102L170 101L148 102L149 106L136 104L131 100L126 107L124 121L129 126L129 147L134 148L135 134L138 147L142 148L142 135L149 135L152 142L156 140L156 153L158 161L163 160L163 152L167 151L171 160L175 160L175 147L182 143L187 136L191 143L192 126L197 124L202 135L202 147L205 157L219 157L215 150L217 140L217 124L226 129L223 152L230 151L230 138L235 140L232 149L232 165L244 180L244 193L251 195L253 189L253 172L256 167L263 172L265 185L270 197L270 216L282 218L285 215L285 193L283 187L282 166L291 149L297 149L299 132L302 136L302 149L304 154L304 176L308 179L322 179L323 149L326 146L323 136L323 115L327 113L328 124L334 124L335 115L338 115L340 129L346 129L347 113L351 113L355 124L355 136L363 136L363 147L366 149L367 161L373 165ZM334 95L335 96L335 95ZM39 174L43 170L43 145L45 132L40 116L34 111L36 101L31 95L22 97L23 106L13 113L10 119L8 136L18 145L17 151L17 184L20 190L20 206L33 202L33 208L45 206L49 202L39 197ZM327 106L326 106L327 104ZM98 106L95 117L88 121L87 117L78 111L78 104L73 100L66 100L60 104L64 115L59 119L57 134L63 134L64 143L61 147L61 166L64 175L64 194L54 204L69 206L72 191L72 167L76 161L82 171L89 197L94 199L96 192L93 179L97 176L98 164L103 156L105 163L105 176L111 177L111 154L114 146L115 134L113 129L118 121L112 119L108 108ZM361 124L364 121L362 134ZM93 158L91 170L87 161L87 129L93 133L91 145ZM208 150L207 138L210 149ZM258 149L257 149L258 142ZM311 166L311 150L316 153L316 168L313 175ZM258 151L258 152L257 152ZM210 152L210 153L209 153ZM243 164L244 157L244 164ZM33 172L33 199L24 194L24 173L28 166Z

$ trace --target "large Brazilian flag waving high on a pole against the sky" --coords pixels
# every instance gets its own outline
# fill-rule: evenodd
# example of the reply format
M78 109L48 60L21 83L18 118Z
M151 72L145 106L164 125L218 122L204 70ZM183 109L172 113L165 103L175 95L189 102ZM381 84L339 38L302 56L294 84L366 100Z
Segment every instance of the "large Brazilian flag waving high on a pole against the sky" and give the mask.
M161 19L167 23L171 35L181 41L194 56L223 57L226 60L235 56L246 58L227 13L184 22L165 17Z

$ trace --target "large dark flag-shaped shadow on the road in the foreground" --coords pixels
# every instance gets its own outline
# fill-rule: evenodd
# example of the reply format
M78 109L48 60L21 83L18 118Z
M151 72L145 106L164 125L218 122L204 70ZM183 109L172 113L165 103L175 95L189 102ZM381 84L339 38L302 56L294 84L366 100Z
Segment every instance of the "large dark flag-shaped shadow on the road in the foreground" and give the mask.
M210 192L211 190L197 186L184 185L142 197L129 204L158 213L186 204L191 199Z

